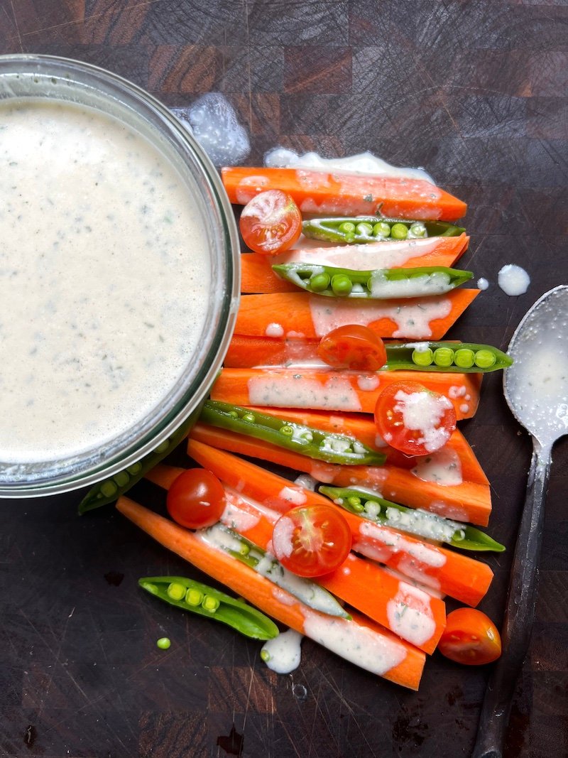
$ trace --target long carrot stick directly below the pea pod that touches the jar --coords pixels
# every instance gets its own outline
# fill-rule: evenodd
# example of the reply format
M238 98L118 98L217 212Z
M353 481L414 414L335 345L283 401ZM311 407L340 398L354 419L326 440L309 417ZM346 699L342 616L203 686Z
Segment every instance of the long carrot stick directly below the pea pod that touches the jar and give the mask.
M438 484L420 481L410 471L397 466L347 466L315 461L270 443L254 440L242 434L195 424L192 440L259 458L278 465L304 471L326 484L338 487L368 487L387 500L410 508L422 508L446 518L487 526L491 514L491 490L488 485L464 481L462 484ZM236 487L239 489L239 487Z

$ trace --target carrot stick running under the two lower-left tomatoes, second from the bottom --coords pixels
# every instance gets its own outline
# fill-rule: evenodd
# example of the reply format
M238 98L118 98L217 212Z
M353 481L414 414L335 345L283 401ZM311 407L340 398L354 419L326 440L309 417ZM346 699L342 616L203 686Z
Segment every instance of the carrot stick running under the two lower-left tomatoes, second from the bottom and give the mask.
M168 468L165 465L158 466L158 471L149 478L156 484L167 487L170 481ZM273 527L280 514L265 509L254 500L245 500L236 490L228 487L225 496L226 509L220 522L257 547L270 551ZM326 505L330 505L329 500ZM429 551L429 548L424 546L423 551ZM407 581L399 581L376 563L352 554L336 571L314 581L425 653L434 652L445 628L445 604L437 597L427 597L424 590L414 589L412 585L409 587ZM414 623L421 627L418 633L401 624L391 610L403 595L409 615L413 612Z

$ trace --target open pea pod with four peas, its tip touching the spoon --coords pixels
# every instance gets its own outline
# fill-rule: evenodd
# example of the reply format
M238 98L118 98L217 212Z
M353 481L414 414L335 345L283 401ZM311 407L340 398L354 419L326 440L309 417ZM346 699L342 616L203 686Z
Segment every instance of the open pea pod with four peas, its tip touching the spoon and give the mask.
M471 342L386 343L385 371L457 371L460 374L499 371L513 359L491 345Z

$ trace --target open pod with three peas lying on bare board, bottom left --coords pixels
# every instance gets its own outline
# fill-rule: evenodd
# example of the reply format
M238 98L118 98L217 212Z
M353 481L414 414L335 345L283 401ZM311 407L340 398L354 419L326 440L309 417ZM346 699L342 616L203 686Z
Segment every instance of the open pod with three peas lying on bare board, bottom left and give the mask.
M267 615L200 581L183 576L146 576L138 584L170 606L220 621L254 640L272 640L279 634Z

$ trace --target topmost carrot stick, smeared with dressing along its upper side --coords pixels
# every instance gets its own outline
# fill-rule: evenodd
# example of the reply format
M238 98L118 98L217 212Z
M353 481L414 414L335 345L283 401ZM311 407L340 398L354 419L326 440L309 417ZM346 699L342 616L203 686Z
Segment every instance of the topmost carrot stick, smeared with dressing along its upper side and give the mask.
M374 215L456 221L467 205L420 179L333 174L295 168L229 167L221 170L229 199L246 205L266 189L282 189L304 213Z

